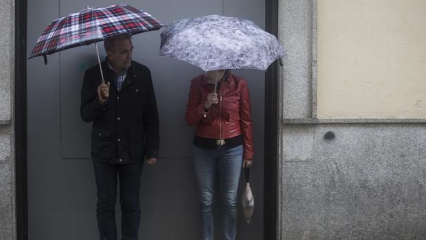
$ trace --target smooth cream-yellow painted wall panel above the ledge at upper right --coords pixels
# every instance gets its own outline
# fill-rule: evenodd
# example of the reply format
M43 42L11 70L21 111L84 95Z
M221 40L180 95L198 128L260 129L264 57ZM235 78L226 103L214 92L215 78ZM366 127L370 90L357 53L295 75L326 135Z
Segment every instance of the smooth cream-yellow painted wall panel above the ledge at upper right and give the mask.
M426 118L426 0L317 0L318 118Z

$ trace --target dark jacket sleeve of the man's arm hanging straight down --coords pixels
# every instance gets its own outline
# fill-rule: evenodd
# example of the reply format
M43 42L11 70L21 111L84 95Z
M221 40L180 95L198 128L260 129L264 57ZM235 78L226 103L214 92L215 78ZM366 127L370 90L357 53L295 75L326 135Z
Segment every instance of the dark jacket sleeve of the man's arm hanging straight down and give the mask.
M143 114L143 128L145 133L145 142L147 144L146 157L156 157L158 159L158 151L160 149L160 123L158 120L158 109L156 94L153 89L151 72L147 73L149 89L147 91L147 102L145 102L145 109Z

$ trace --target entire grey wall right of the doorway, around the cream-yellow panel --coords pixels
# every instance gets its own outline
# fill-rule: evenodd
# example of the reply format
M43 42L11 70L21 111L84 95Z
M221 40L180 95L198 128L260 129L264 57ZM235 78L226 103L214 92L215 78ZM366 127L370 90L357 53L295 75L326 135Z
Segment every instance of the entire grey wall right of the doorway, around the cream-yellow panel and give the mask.
M423 239L426 120L317 118L316 5L279 1L277 239Z

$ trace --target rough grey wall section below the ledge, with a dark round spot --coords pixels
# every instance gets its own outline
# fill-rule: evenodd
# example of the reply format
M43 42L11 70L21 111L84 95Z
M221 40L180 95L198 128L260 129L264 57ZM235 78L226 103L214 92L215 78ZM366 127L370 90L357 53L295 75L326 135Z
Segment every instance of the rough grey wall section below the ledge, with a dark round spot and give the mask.
M281 239L425 237L424 124L295 124L282 134L306 148L284 144Z

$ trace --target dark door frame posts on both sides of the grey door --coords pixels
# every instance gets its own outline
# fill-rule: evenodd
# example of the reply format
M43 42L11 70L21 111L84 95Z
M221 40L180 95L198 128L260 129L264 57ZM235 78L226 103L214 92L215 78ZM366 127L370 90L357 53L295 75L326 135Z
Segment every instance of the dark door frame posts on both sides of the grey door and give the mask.
M278 0L265 0L266 31L278 34ZM28 240L27 0L15 0L15 183L17 239ZM265 74L264 239L277 239L278 81L277 61Z

